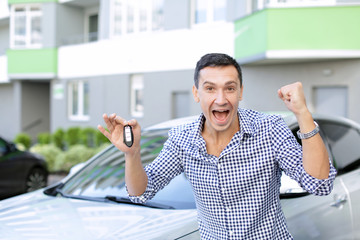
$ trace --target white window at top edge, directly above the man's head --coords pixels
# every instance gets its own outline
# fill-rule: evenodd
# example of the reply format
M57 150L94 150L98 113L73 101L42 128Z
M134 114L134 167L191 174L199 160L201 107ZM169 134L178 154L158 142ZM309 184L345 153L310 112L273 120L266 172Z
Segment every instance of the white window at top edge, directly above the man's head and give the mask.
M195 24L226 20L226 0L195 0Z

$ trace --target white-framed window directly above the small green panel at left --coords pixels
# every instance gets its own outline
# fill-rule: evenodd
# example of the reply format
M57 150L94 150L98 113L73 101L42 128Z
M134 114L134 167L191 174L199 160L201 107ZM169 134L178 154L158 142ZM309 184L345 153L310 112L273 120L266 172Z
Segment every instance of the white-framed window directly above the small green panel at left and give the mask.
M42 42L42 12L39 5L11 7L12 48L38 48Z

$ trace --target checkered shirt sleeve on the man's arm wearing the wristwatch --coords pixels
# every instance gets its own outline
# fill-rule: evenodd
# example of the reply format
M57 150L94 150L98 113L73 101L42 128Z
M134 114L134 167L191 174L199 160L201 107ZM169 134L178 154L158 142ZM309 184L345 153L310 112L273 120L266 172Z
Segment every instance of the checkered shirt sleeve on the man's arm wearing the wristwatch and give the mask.
M330 194L336 176L336 170L330 159L328 178L317 179L308 174L303 166L302 147L282 119L275 123L273 141L276 161L286 175L297 181L303 189L311 194L318 196Z

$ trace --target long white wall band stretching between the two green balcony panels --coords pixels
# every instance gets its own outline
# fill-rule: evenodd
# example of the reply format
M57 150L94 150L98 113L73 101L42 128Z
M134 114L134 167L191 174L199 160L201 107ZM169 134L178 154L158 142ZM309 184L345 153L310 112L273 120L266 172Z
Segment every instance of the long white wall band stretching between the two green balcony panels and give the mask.
M209 52L233 55L232 23L122 36L59 48L59 78L194 69Z

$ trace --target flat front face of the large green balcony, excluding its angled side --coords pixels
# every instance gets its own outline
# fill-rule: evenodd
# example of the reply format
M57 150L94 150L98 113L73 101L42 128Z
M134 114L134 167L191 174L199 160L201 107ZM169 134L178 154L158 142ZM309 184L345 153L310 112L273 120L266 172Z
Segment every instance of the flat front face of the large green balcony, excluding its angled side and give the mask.
M268 49L360 49L360 7L268 10Z

